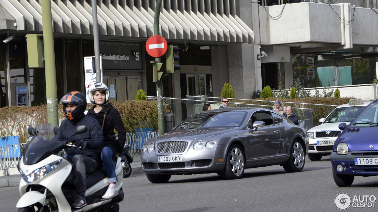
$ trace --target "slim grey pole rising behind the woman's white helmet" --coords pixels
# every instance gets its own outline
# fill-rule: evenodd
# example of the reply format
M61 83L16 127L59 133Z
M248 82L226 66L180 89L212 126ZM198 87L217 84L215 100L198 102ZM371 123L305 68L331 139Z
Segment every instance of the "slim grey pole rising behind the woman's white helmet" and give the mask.
M101 70L100 70L100 43L98 32L98 20L97 20L97 0L92 0L92 20L93 20L93 45L95 46L95 69L96 69L96 82L101 82Z

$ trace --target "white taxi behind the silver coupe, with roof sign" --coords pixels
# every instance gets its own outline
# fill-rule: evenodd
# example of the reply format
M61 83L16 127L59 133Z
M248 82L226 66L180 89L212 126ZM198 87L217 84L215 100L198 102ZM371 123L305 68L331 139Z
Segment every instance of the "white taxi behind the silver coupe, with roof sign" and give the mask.
M330 155L336 138L341 134L339 124L342 122L347 125L350 124L350 121L371 102L350 99L349 104L342 104L335 108L327 118L319 119L322 124L307 131L308 143L310 144L308 158L315 161L322 159L323 155Z

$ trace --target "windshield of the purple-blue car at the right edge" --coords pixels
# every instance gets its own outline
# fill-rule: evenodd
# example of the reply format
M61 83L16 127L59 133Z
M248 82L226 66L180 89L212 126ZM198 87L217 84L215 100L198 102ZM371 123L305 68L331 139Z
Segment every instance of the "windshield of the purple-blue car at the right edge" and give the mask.
M378 103L374 102L366 106L366 109L352 122L354 126L377 126L378 125Z

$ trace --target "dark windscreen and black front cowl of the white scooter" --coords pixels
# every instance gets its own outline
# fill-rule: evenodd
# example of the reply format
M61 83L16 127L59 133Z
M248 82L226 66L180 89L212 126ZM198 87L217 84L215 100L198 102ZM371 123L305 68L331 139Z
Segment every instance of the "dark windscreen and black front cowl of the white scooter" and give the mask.
M36 126L34 137L24 149L24 164L35 164L51 154L57 154L63 143L56 135L58 127L55 124L44 123Z

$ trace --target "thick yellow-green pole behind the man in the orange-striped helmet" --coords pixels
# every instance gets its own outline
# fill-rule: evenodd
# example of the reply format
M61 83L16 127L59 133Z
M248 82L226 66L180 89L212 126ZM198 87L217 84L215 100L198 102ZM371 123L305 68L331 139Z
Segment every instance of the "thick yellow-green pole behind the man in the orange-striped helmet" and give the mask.
M45 51L45 75L47 98L47 121L59 125L58 97L56 92L53 21L50 0L42 0L43 49Z

